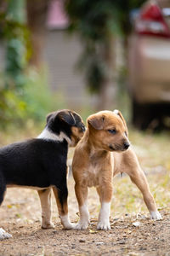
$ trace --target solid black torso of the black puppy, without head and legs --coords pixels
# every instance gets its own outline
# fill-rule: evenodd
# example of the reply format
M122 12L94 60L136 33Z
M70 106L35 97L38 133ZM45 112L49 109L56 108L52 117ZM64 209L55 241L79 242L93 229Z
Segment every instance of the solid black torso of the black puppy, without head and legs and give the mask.
M0 149L0 172L6 184L59 187L65 177L68 144L31 139Z

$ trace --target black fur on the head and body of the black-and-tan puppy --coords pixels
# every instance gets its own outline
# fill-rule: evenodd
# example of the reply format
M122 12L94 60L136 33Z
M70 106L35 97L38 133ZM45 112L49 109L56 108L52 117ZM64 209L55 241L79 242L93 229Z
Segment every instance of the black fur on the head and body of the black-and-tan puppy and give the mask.
M71 127L82 131L84 125L77 113L61 110L50 113L46 129L59 135L60 131L71 139ZM0 148L0 205L8 185L39 188L54 186L63 205L67 198L66 160L68 142L34 138L22 143L13 143Z

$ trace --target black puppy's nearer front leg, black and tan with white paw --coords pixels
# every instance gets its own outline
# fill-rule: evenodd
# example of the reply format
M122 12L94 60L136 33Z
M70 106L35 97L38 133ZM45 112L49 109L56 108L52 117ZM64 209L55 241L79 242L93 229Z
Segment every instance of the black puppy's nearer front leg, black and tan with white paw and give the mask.
M68 189L66 184L56 188L53 188L55 200L57 203L58 211L59 211L59 218L61 220L61 224L64 226L65 230L73 229L73 225L71 224L69 215L68 215Z

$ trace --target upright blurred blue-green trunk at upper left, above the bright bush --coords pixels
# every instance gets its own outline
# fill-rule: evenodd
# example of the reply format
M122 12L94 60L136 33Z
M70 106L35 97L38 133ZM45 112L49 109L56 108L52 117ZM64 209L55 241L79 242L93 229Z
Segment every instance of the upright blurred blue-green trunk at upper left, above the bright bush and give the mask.
M22 90L26 83L27 42L26 1L9 0L3 36L6 40L5 86Z

